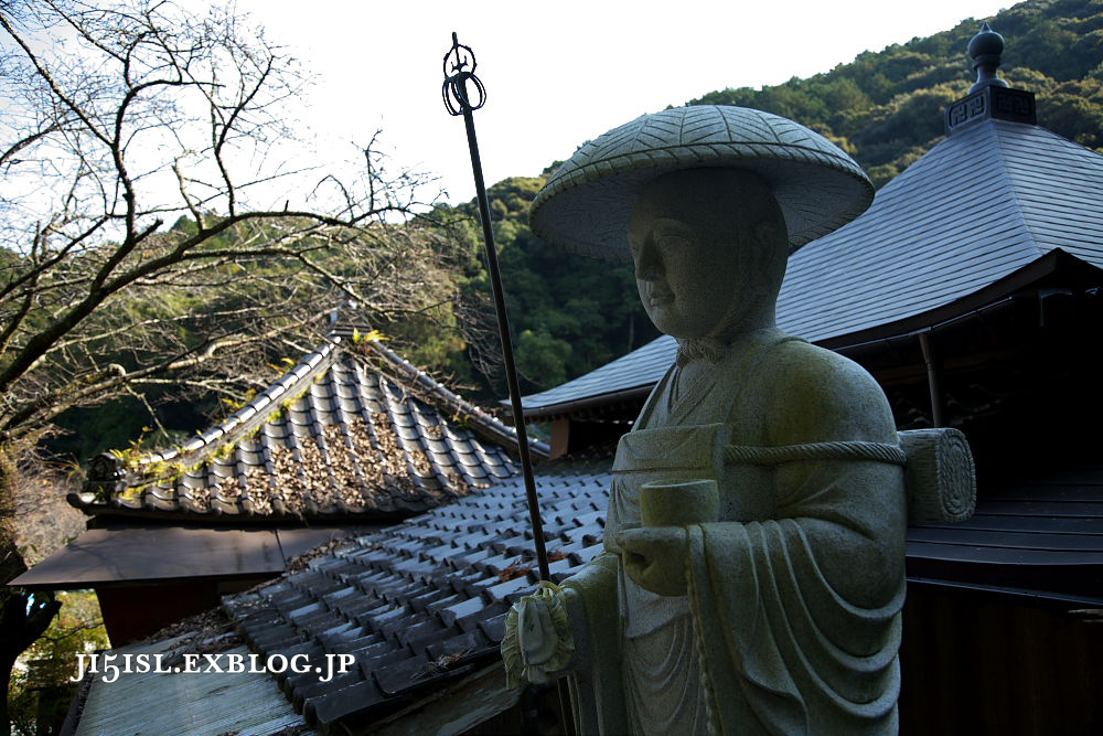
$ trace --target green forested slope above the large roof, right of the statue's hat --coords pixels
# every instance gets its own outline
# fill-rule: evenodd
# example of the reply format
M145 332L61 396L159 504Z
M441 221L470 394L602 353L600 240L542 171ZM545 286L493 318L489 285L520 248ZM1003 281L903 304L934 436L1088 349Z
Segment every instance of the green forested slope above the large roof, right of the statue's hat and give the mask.
M1006 41L1002 73L1038 95L1038 122L1103 146L1103 2L1032 0L988 19ZM710 92L690 105L738 105L792 118L855 157L878 186L941 139L942 110L975 76L966 55L981 21L913 39L807 79Z

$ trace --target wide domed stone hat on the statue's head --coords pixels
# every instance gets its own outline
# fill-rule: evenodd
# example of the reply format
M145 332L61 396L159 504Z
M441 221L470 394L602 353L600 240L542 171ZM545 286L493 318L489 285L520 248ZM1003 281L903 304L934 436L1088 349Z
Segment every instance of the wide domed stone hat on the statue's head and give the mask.
M761 110L695 105L643 115L578 149L533 201L533 231L571 253L631 260L628 222L643 185L703 167L758 173L781 205L790 253L874 199L861 168L820 134Z

